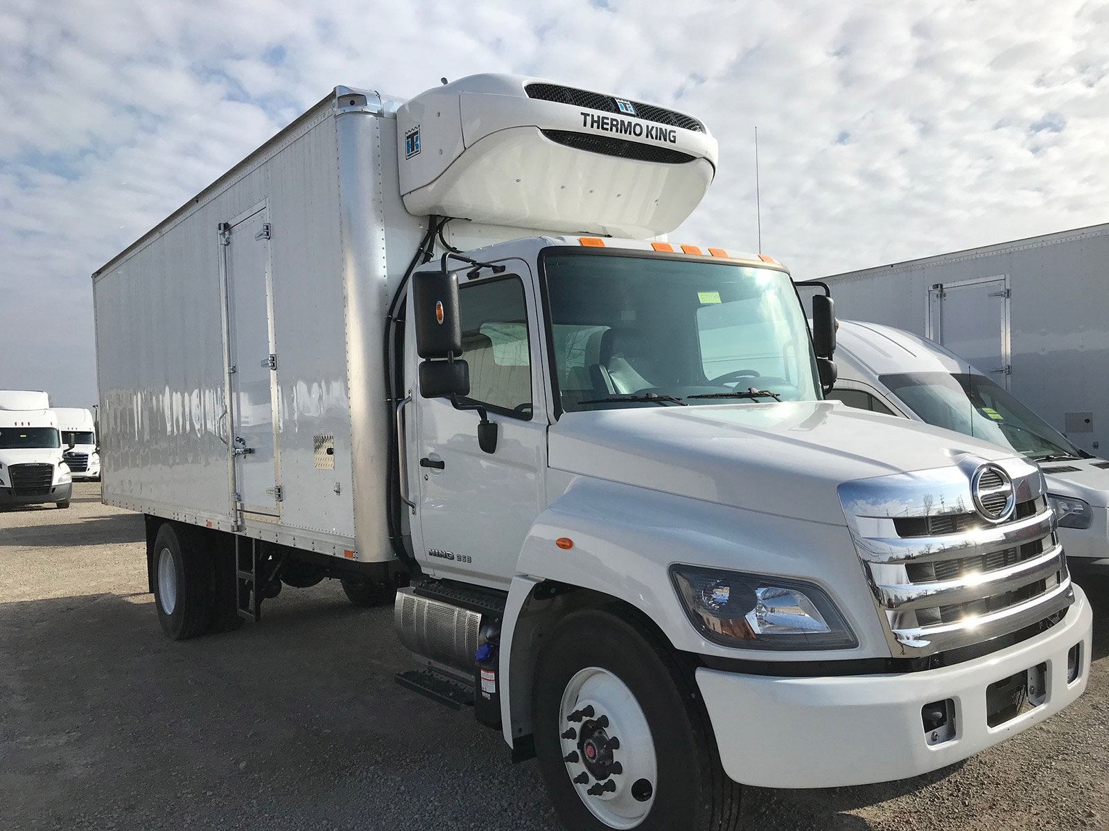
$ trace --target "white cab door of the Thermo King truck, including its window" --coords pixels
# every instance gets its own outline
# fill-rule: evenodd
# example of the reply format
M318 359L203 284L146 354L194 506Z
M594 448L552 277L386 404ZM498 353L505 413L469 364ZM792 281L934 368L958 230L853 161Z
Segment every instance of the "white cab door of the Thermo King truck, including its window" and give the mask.
M414 547L433 576L507 588L543 504L538 304L519 260L507 274L464 281L458 299L470 373L469 396L460 402L486 409L497 424L497 445L492 453L478 445L476 410L411 391L416 440L408 481L419 485Z

